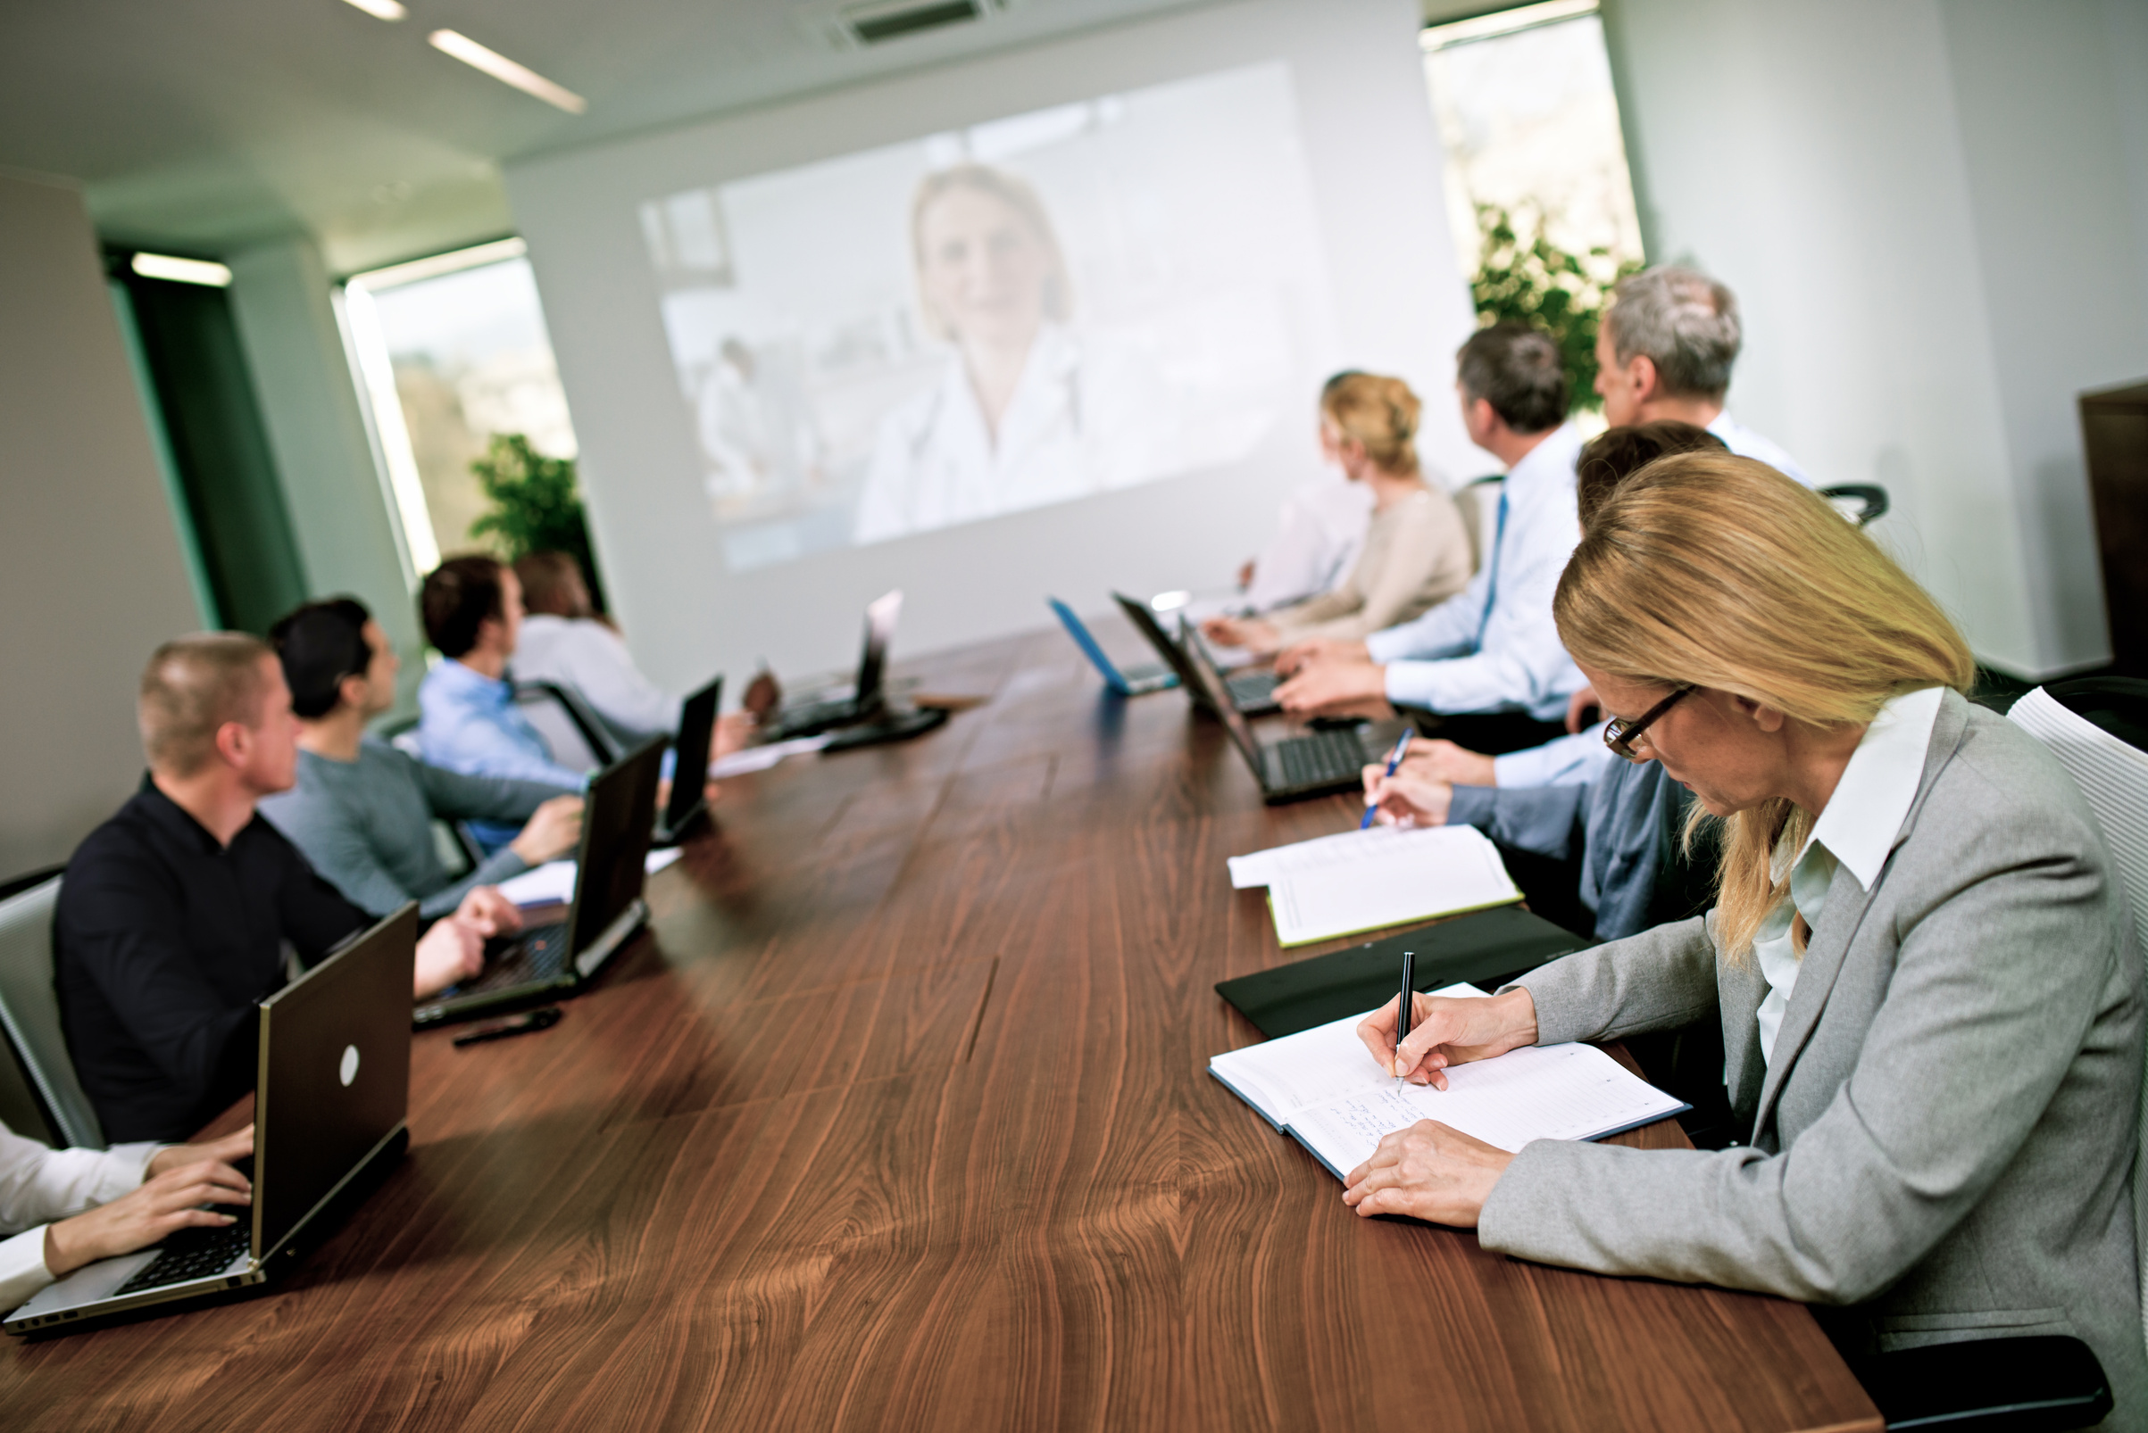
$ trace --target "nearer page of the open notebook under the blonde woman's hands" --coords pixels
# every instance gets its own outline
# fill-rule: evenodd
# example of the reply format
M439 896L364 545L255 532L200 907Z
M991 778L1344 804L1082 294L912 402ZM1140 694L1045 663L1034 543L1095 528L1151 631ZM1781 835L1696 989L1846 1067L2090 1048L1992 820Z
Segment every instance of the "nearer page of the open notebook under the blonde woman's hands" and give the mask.
M1596 1046L1532 1044L1450 1066L1446 1089L1381 1081L1302 1111L1289 1126L1340 1179L1373 1158L1385 1134L1420 1119L1519 1152L1532 1139L1600 1139L1682 1109Z

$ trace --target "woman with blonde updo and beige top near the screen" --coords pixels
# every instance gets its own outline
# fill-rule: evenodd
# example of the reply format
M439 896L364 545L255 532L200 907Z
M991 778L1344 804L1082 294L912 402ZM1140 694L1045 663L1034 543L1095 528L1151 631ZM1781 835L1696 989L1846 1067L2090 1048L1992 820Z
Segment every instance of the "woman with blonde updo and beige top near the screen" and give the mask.
M1342 582L1265 617L1211 617L1209 640L1282 651L1308 638L1355 640L1405 623L1469 584L1469 529L1418 468L1418 395L1400 378L1340 374L1321 395L1321 449L1373 490L1373 526Z

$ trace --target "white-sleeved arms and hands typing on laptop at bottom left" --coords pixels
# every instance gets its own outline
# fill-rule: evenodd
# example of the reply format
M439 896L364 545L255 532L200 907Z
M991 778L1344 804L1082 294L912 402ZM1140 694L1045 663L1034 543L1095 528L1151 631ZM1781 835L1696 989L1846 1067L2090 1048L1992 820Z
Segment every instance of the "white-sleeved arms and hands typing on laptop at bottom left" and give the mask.
M249 1154L253 1126L206 1145L52 1149L0 1124L0 1313L84 1263L236 1222L204 1205L245 1214L253 1186L232 1162Z

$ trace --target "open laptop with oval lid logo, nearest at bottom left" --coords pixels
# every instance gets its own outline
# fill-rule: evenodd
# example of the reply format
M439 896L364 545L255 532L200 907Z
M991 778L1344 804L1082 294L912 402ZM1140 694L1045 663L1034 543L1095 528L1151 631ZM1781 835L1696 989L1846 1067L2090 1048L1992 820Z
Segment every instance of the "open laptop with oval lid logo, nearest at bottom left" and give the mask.
M200 1304L268 1283L363 1197L410 1143L410 962L417 902L260 1003L253 1210L99 1259L6 1317L11 1334L67 1332L155 1304ZM217 1205L223 1207L223 1205Z

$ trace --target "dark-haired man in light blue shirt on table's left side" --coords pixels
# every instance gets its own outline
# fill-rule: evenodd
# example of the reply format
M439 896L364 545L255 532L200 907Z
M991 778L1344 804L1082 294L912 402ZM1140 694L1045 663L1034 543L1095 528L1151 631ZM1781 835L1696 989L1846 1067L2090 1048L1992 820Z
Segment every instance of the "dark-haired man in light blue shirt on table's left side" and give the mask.
M511 776L580 791L584 776L552 761L543 737L516 707L507 657L522 629L522 584L490 556L451 556L419 593L425 638L442 662L417 692L417 739L425 761L464 776ZM470 823L490 855L518 827Z

